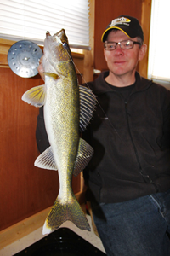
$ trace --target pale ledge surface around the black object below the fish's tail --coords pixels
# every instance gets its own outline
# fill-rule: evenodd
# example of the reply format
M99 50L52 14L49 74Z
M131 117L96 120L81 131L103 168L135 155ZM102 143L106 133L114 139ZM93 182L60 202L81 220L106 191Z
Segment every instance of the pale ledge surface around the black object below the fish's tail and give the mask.
M92 228L92 222L89 215L87 215L88 223L91 226L91 231L80 230L75 226L75 224L71 223L70 221L66 221L64 224L60 226L60 228L68 228L73 230L78 236L81 236L84 240L91 243L94 247L97 247L100 251L105 253L105 249L99 239L98 236L94 234L94 230ZM47 236L47 235L45 235ZM31 244L35 243L36 241L42 239L44 235L42 235L42 227L31 232L31 234L21 238L18 241L4 247L0 250L0 256L13 256L15 253L19 253L20 251L24 250L26 247L31 246Z

